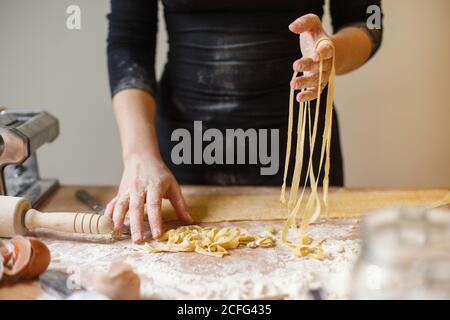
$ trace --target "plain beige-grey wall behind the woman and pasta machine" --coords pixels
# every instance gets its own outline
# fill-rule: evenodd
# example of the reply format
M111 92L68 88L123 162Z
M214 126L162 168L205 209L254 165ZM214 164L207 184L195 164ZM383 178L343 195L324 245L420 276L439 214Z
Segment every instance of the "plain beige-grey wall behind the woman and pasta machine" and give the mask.
M82 29L65 27L66 8ZM384 0L381 51L338 79L348 186L450 186L450 1ZM106 70L107 0L0 0L0 105L44 108L61 136L43 176L117 184L122 170ZM160 27L164 31L164 27ZM157 70L167 50L159 34Z

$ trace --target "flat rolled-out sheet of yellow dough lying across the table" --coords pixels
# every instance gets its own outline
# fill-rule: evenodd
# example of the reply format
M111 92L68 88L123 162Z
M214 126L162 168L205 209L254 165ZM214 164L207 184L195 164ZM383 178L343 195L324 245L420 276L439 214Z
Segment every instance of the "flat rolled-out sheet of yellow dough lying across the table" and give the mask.
M287 209L279 194L187 194L189 212L195 222L284 220ZM329 212L321 218L357 218L374 210L389 207L436 207L450 203L450 189L436 190L349 190L332 189L329 194ZM177 220L166 200L163 201L166 221Z

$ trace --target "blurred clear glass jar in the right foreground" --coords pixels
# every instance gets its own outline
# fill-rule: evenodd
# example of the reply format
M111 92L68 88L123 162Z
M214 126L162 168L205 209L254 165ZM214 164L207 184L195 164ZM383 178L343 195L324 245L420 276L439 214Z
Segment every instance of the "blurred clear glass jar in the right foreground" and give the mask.
M450 299L450 211L401 208L363 218L352 299Z

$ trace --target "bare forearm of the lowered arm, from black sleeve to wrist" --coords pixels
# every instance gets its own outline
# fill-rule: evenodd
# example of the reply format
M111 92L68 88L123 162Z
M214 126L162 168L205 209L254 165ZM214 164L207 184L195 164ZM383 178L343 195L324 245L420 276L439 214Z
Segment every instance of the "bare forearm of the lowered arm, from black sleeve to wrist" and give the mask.
M114 96L113 109L124 162L133 156L160 158L153 97L142 90L123 90Z

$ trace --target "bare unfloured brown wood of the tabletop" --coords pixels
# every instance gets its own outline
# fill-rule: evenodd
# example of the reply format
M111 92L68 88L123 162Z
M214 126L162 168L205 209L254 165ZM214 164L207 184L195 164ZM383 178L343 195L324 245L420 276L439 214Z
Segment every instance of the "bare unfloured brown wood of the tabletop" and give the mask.
M115 187L97 187L97 186L63 186L60 187L53 195L46 199L39 209L42 211L90 211L86 206L80 203L74 196L76 190L85 189L91 193L102 205L106 203L115 195ZM339 189L337 189L339 190ZM450 189L433 189L438 194L448 194ZM388 189L345 189L350 193L355 192L359 194L383 194L398 193L402 194L422 194L422 198L426 198L428 194L435 195L432 189L417 190L417 189L402 189L402 190L388 190ZM423 191L423 192L422 192ZM226 194L226 195L271 195L277 196L279 188L266 187L183 187L185 197L207 195L207 194ZM423 199L422 199L423 200ZM425 199L426 200L426 199ZM35 299L41 294L41 290L37 282L17 283L13 285L0 286L0 300L2 299Z

